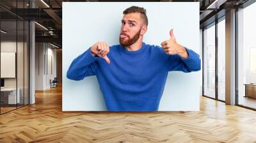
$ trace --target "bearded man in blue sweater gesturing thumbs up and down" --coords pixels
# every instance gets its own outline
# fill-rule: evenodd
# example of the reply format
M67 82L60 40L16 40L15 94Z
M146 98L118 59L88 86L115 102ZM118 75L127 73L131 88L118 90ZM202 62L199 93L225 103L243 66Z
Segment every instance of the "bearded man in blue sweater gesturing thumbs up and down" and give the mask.
M120 45L97 42L72 61L67 78L82 80L96 75L110 111L156 111L169 71L200 70L193 50L170 39L162 47L143 42L147 32L146 10L131 6L124 11Z

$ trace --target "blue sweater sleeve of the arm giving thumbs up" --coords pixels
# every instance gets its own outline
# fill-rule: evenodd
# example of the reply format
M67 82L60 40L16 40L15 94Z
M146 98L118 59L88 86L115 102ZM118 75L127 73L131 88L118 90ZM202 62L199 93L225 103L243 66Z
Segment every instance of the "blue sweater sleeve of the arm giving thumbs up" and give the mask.
M188 57L182 58L178 54L168 57L169 71L182 71L185 73L201 70L201 60L198 54L185 47Z

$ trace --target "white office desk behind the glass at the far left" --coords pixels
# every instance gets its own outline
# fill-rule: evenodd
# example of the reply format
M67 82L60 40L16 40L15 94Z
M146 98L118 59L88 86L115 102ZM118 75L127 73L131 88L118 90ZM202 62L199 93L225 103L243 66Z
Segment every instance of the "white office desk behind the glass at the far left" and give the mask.
M17 91L18 94L16 98L16 88L1 89L1 102L4 102L4 104L20 103L20 89L17 88Z

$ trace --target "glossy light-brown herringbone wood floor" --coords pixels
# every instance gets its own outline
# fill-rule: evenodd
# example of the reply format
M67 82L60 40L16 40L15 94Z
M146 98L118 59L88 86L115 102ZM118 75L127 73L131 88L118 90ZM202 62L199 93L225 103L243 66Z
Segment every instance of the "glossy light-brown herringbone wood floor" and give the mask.
M0 142L256 142L256 112L202 97L200 112L62 112L61 87L0 116Z

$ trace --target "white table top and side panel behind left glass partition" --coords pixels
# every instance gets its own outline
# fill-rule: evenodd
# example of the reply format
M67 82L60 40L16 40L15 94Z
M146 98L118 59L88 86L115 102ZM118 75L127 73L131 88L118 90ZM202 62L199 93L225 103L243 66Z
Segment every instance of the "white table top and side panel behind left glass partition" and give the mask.
M17 88L18 94L16 99L16 88L1 89L1 93L8 93L8 104L20 103L20 89Z

